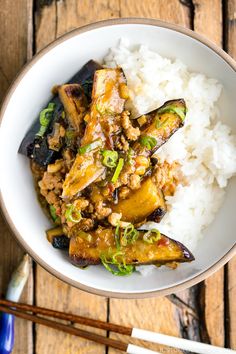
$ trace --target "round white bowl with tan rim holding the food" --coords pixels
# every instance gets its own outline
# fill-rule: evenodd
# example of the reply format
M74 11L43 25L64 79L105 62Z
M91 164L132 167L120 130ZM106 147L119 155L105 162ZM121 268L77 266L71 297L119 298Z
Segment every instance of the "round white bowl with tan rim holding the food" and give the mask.
M236 133L236 64L225 52L196 33L149 19L110 20L79 28L41 51L13 83L1 111L0 188L2 209L17 239L45 269L80 289L96 294L138 298L166 295L205 279L235 253L236 179L224 204L194 252L196 260L175 271L161 268L147 276L114 277L102 267L80 270L45 237L49 221L37 202L29 161L17 153L33 120L48 101L51 87L66 82L87 60L102 60L109 47L126 37L145 43L163 56L179 58L194 71L224 86L220 109Z

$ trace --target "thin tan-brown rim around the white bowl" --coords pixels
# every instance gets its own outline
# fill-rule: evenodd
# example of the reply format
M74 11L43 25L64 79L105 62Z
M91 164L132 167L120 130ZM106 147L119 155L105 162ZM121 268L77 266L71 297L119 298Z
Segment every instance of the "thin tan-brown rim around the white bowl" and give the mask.
M16 90L17 86L19 85L20 81L22 78L26 75L28 70L42 57L44 56L48 51L56 47L58 44L74 37L77 36L81 33L88 32L97 28L101 27L107 27L107 26L113 26L113 25L127 25L127 24L140 24L140 25L149 25L149 26L154 26L154 27L161 27L161 28L166 28L169 30L172 30L174 32L178 32L181 34L184 34L188 37L191 37L192 39L197 40L198 42L201 42L203 45L207 46L211 50L215 52L218 56L220 56L234 71L236 71L236 62L234 61L233 58L231 58L223 49L218 47L216 44L214 44L211 40L207 39L206 37L188 29L181 27L179 25L175 25L172 23L168 23L162 20L157 20L157 19L152 19L152 18L138 18L138 17L130 17L130 18L115 18L115 19L110 19L110 20L103 20L103 21L98 21L94 22L79 28L76 28L58 39L54 40L52 43L48 44L46 47L44 47L42 50L39 51L29 62L27 62L19 74L15 77L13 83L10 85L5 98L2 103L1 111L0 111L0 129L1 129L1 123L3 121L3 117L6 111L6 108L8 106L8 103L14 94L14 91ZM165 289L160 289L160 290L154 290L154 291L145 291L145 292L138 292L138 293L122 293L122 292L116 292L116 291L106 291L106 290L100 290L96 289L84 284L81 284L79 281L74 281L70 279L67 276L62 275L59 271L56 269L52 268L51 266L48 266L46 262L41 259L37 253L35 253L31 247L24 241L23 237L21 236L20 232L16 229L12 218L10 217L7 208L5 206L2 192L1 192L1 186L0 186L0 207L3 212L3 216L5 220L7 221L7 224L9 225L10 229L13 232L13 235L15 236L17 242L23 246L23 248L30 254L30 256L40 265L42 266L45 270L47 270L49 273L54 275L56 278L64 281L65 283L72 285L80 290L100 295L100 296L105 296L105 297L113 297L113 298L121 298L121 299L142 299L142 298L150 298L153 296L166 296L174 292L179 292L181 290L184 290L186 288L189 288L210 275L212 275L214 272L216 272L219 268L221 268L224 264L226 264L235 254L236 254L236 244L232 246L232 248L223 256L221 257L218 261L216 261L211 267L206 269L205 271L201 272L200 274L180 283L177 285L173 285L170 287L167 287Z

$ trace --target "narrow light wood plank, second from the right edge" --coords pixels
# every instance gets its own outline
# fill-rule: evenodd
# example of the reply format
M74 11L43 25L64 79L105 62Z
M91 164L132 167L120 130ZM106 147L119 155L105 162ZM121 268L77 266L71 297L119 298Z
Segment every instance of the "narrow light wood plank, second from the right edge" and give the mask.
M194 30L222 45L221 0L194 0ZM224 269L204 283L204 319L210 342L224 346Z

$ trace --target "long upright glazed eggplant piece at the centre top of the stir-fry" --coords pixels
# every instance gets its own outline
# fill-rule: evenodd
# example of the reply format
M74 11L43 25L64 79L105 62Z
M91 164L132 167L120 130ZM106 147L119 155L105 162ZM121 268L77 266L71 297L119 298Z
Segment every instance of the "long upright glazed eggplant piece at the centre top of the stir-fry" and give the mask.
M63 184L63 198L73 198L104 173L105 167L101 156L97 157L96 148L98 144L99 148L107 148L107 141L110 142L107 124L113 124L115 115L124 109L125 99L120 97L120 87L124 83L121 69L95 72L90 116L80 151Z

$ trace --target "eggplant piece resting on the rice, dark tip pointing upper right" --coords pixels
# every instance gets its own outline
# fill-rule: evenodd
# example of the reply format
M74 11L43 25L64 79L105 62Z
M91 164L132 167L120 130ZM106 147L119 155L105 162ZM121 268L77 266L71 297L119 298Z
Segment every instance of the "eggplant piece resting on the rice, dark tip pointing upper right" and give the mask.
M145 156L152 155L184 124L186 104L183 99L167 101L163 106L145 115L144 125L133 150Z

